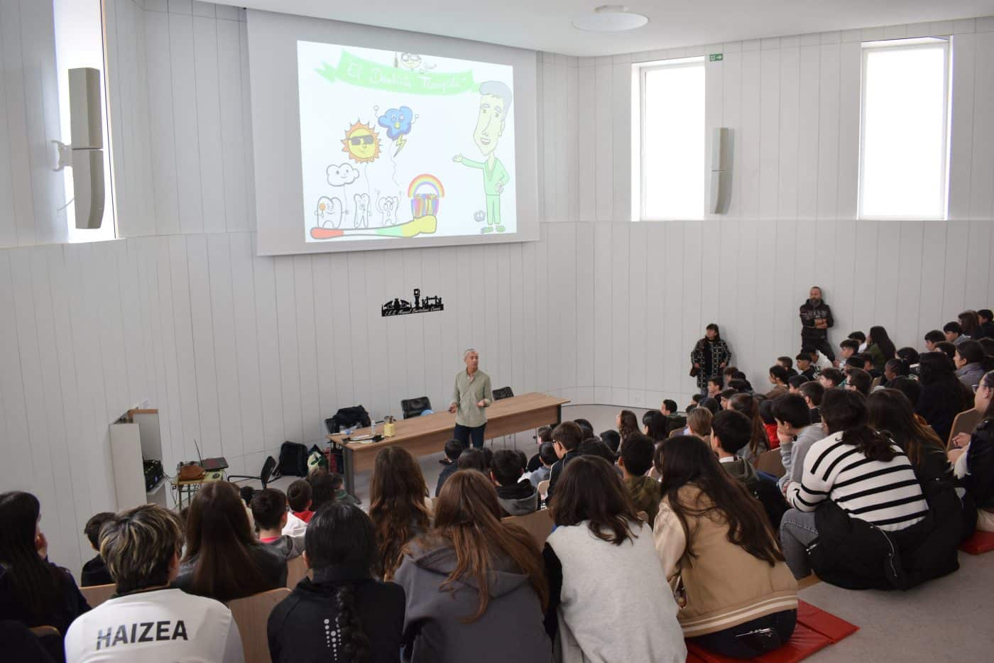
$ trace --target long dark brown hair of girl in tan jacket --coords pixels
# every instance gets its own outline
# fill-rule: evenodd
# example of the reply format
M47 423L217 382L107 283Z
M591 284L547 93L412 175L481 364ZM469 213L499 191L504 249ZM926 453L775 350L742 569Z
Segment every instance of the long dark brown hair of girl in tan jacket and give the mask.
M730 543L770 567L783 561L779 541L759 501L749 494L743 482L722 469L707 444L691 435L670 437L656 447L653 460L656 471L663 477L663 498L669 502L687 536L687 555L696 556L688 517L720 515L729 526L726 537ZM680 489L688 484L696 486L708 499L685 504Z

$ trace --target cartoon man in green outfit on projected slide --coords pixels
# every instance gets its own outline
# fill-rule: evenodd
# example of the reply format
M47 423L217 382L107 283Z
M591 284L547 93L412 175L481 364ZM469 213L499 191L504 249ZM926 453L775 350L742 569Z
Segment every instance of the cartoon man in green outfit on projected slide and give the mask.
M461 154L452 157L452 161L461 163L469 168L479 168L483 171L483 193L487 199L487 225L480 229L481 233L504 232L500 221L500 195L504 185L511 179L494 151L497 141L504 133L504 120L511 106L511 89L506 83L487 81L480 84L480 108L476 117L476 128L473 129L473 142L479 148L484 161L473 161Z

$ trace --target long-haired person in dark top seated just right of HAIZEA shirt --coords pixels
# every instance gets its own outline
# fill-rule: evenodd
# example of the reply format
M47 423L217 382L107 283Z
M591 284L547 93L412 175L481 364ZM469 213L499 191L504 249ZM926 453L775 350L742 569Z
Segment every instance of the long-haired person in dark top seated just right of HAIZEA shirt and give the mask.
M197 491L174 586L222 603L286 586L286 558L256 541L245 513L234 484L213 481Z

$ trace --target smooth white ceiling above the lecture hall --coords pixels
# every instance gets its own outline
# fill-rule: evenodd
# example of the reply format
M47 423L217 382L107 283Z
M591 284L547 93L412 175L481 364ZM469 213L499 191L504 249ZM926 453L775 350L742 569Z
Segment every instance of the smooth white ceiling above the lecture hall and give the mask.
M624 0L216 0L221 4L459 37L572 56L943 21L994 14L994 0L627 0L649 24L580 32L571 19Z

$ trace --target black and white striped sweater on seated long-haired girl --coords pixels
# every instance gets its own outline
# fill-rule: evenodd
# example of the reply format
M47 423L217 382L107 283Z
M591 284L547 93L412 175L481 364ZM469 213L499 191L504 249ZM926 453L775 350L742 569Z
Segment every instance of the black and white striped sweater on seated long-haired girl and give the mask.
M837 432L811 445L804 456L800 483L787 488L787 502L799 511L814 511L831 499L850 516L882 530L903 530L928 511L908 456L897 445L890 462L871 460Z

